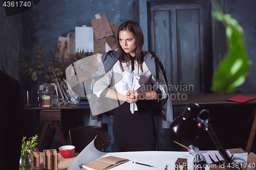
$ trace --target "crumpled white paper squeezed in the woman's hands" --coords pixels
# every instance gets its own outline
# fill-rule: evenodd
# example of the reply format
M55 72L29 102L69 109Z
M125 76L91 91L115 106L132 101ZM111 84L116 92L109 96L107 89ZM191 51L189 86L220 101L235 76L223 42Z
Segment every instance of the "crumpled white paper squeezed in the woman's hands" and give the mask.
M130 90L137 90L140 87L139 80L140 78L135 76L135 72L133 70L132 74L130 74L128 71L123 71L122 72L123 78L123 90L126 92ZM137 105L136 103L130 103L130 110L134 114L134 111L137 111Z

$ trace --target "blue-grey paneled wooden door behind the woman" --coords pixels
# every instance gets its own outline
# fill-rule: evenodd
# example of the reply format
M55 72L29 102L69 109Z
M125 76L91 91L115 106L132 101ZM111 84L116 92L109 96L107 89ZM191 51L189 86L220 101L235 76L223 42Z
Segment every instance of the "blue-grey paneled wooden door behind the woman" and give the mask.
M169 89L176 94L209 92L210 3L148 1L148 4L148 49L160 54Z

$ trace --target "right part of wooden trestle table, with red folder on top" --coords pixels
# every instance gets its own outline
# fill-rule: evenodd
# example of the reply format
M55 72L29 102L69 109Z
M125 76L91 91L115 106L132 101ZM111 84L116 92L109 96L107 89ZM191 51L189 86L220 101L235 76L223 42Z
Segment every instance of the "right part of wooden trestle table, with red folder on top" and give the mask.
M237 95L245 95L256 98L256 93L212 93L212 94L187 94L186 100L172 100L173 106L186 106L189 103L197 103L200 106L203 105L256 105L256 100L252 100L246 103L238 103L238 102L232 102L227 99L232 98ZM176 97L178 98L178 97ZM181 99L181 95L179 96L179 99ZM185 99L185 95L183 95L183 99ZM249 153L251 150L251 145L253 142L253 138L256 131L256 107L252 111L252 113L249 115L248 119L246 120L246 123L242 125L242 128L240 126L237 126L235 131L238 131L236 136L233 136L230 141L236 141L236 139L242 134L245 127L248 125L250 120L254 117L253 124L251 127L251 132L249 135L249 139L247 142L246 150L245 152Z

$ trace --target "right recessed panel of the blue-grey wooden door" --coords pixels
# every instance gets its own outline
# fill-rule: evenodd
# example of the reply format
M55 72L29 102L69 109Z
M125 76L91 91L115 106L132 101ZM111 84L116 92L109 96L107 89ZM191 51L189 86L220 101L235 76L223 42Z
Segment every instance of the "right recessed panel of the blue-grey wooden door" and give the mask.
M199 9L177 10L178 85L201 91L201 41ZM185 91L178 88L177 91Z

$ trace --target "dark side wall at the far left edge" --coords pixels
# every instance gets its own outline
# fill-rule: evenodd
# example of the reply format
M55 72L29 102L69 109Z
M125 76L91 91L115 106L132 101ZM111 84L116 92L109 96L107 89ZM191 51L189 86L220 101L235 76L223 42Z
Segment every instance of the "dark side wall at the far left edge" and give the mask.
M24 69L15 63L15 60L23 59L22 14L6 17L1 5L0 30L0 70L19 82L25 82Z

